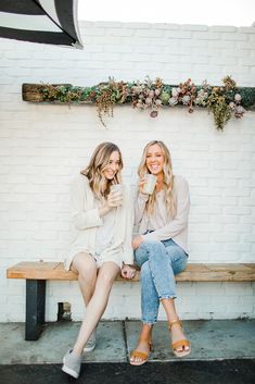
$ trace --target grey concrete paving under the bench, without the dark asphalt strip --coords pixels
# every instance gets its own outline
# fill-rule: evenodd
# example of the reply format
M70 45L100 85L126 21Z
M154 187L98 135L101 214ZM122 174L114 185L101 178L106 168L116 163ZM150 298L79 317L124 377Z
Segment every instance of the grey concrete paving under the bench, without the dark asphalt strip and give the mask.
M79 326L78 322L50 323L38 340L25 342L24 324L0 323L0 364L61 363ZM183 321L183 327L192 345L184 360L255 358L255 320L189 320ZM128 362L139 331L138 321L100 322L97 348L86 354L84 361ZM150 360L179 360L169 343L166 323L158 322L153 331L154 352Z

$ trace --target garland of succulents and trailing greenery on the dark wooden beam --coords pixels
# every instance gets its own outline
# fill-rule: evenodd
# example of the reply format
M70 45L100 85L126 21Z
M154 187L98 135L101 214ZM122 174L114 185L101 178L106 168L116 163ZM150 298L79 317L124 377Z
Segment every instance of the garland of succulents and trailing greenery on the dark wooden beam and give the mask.
M133 108L150 109L150 115L156 117L162 107L184 106L192 113L195 107L205 107L213 112L217 129L224 129L233 114L242 117L245 109L255 104L255 88L237 88L235 82L226 76L222 85L212 87L204 82L195 86L189 78L178 86L163 84L161 78L152 82L146 77L143 83L115 82L110 78L93 87L74 87L72 85L44 84L40 88L43 101L63 103L93 103L98 115L105 126L103 116L113 116L115 104L131 103Z

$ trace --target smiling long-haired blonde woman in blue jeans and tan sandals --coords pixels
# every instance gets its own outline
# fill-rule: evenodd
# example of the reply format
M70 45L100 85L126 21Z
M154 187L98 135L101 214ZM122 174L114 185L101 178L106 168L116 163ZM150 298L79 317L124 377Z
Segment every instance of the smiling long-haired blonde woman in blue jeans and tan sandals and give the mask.
M145 146L138 173L136 224L139 235L132 247L141 268L142 327L137 348L130 356L133 366L149 359L160 302L167 315L175 355L183 357L191 351L175 308L175 275L184 270L188 258L189 186L182 176L173 174L170 153L163 141L154 140ZM151 195L143 191L148 173L156 176Z

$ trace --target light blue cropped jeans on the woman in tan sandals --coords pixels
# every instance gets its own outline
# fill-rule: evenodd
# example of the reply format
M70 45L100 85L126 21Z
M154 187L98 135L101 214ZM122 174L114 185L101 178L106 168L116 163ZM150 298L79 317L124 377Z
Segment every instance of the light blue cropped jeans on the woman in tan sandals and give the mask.
M142 322L154 324L160 300L176 298L175 275L186 269L188 255L173 239L143 241L135 250L136 263L141 268Z

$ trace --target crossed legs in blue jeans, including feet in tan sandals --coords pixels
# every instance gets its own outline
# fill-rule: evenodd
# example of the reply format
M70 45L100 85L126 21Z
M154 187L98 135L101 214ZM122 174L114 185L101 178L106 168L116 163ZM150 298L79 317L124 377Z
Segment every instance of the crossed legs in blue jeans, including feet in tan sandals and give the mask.
M186 339L175 308L175 274L186 268L187 256L173 240L144 241L136 250L136 260L141 267L142 327L136 351L150 354L152 327L157 320L162 302L171 331L173 344ZM173 323L174 322L174 323ZM189 346L177 346L177 352L189 351ZM139 355L139 354L138 354ZM131 355L131 363L141 363L143 358Z

